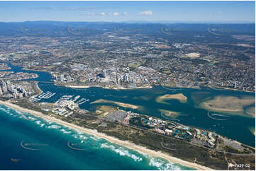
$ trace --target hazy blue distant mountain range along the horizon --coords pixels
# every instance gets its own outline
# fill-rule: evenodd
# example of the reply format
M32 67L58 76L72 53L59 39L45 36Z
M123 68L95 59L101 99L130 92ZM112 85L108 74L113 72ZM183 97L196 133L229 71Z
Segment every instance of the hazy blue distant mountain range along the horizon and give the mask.
M166 22L166 23L165 23ZM66 34L67 28L85 28L94 30L94 33L105 33L113 31L113 28L130 30L143 30L144 33L160 33L160 28L167 28L172 32L186 30L187 33L199 34L206 32L208 28L221 32L228 31L228 34L250 34L255 35L255 23L168 23L167 21L145 22L145 21L126 21L126 22L63 22L63 21L25 21L25 22L0 22L0 35L21 35L24 31L43 31L48 35L58 33L58 36ZM98 32L95 32L97 30ZM61 33L61 34L60 34ZM28 34L29 35L29 34ZM32 34L31 35L35 35Z

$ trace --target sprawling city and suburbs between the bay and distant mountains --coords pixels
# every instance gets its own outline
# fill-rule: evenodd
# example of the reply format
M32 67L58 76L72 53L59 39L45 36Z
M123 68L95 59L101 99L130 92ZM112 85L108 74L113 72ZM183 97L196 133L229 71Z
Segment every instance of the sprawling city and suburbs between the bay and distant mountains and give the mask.
M73 86L172 83L255 91L255 42L234 37L235 42L223 44L198 33L177 42L163 36L109 30L87 36L0 37L0 61L49 71L57 83ZM184 57L195 53L200 57Z

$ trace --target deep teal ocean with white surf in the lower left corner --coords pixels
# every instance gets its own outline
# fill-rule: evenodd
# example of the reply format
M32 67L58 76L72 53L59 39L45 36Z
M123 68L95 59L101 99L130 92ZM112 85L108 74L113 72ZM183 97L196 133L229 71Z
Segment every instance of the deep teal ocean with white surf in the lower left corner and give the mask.
M1 170L194 170L0 105Z

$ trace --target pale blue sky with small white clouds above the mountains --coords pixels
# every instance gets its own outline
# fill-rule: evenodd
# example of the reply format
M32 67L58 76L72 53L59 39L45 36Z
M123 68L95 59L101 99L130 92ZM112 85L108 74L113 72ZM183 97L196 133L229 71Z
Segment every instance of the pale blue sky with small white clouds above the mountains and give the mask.
M0 1L0 21L255 23L255 1Z

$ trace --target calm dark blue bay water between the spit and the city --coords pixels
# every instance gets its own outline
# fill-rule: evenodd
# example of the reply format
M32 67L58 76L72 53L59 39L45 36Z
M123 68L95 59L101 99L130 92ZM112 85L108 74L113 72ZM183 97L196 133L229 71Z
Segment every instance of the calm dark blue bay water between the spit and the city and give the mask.
M140 114L147 114L153 117L158 117L168 120L167 117L162 116L159 109L170 110L174 112L181 112L179 117L174 120L187 126L195 126L200 129L216 131L216 133L228 138L235 139L250 146L255 146L255 135L250 131L251 127L255 127L255 118L240 116L238 114L226 114L230 116L228 120L220 121L208 117L208 110L195 107L195 102L192 100L196 93L207 93L208 96L215 95L233 95L240 97L241 95L251 95L255 97L254 93L246 93L234 90L213 90L210 88L201 88L201 90L191 88L172 88L172 90L163 88L162 86L154 86L151 89L134 89L134 90L108 90L104 88L86 88L74 89L59 87L49 83L39 83L39 87L43 91L52 91L57 93L48 100L41 100L42 102L55 102L62 95L81 95L81 98L87 98L90 101L85 102L79 107L85 110L95 110L98 105L113 105L109 103L90 104L95 100L113 100L117 102L129 103L132 105L139 105L138 110L130 108L119 107L123 110L131 110ZM156 98L165 94L182 93L188 98L187 103L181 103L177 100L168 100L169 105L156 102Z

